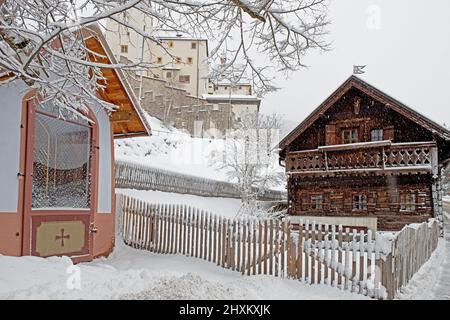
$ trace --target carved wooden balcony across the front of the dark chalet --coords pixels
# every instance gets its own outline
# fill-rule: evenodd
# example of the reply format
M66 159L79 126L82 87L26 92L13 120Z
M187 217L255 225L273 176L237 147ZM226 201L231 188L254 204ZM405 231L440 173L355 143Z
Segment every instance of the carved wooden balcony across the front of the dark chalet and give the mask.
M438 172L435 142L390 141L323 146L289 152L286 172L304 176Z

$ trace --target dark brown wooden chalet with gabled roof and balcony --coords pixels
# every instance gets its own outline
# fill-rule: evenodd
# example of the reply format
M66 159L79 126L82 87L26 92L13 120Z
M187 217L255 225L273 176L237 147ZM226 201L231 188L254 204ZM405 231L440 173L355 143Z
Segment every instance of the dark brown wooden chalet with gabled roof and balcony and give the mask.
M280 143L288 213L399 230L442 217L450 132L352 76Z

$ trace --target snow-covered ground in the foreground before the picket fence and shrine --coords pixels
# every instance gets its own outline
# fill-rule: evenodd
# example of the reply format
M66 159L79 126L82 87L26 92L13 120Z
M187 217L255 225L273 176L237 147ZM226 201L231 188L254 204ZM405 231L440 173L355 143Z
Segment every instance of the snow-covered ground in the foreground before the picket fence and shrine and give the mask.
M325 285L242 276L200 259L152 254L121 242L109 258L75 267L65 257L0 256L0 270L0 299L369 299Z

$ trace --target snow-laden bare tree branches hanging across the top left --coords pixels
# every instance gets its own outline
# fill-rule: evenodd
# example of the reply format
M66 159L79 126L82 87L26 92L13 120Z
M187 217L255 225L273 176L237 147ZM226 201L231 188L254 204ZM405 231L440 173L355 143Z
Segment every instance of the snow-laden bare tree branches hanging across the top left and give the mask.
M159 43L149 28L126 18L129 10L150 17L153 28L208 38L210 76L250 77L258 94L276 89L275 71L297 70L311 49L328 49L325 0L0 0L0 73L22 79L61 107L80 111L95 100L111 109L96 95L104 65L87 59L93 53L82 30L94 23L104 29L112 19ZM218 58L222 63L214 65Z

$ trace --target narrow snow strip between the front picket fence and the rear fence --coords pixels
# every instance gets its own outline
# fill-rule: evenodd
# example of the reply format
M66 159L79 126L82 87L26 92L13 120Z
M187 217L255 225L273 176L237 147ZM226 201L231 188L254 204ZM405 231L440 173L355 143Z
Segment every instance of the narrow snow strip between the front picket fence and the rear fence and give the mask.
M132 196L154 204L187 205L227 218L234 218L241 206L241 200L231 198L200 197L190 194L134 189L116 189L116 193Z

